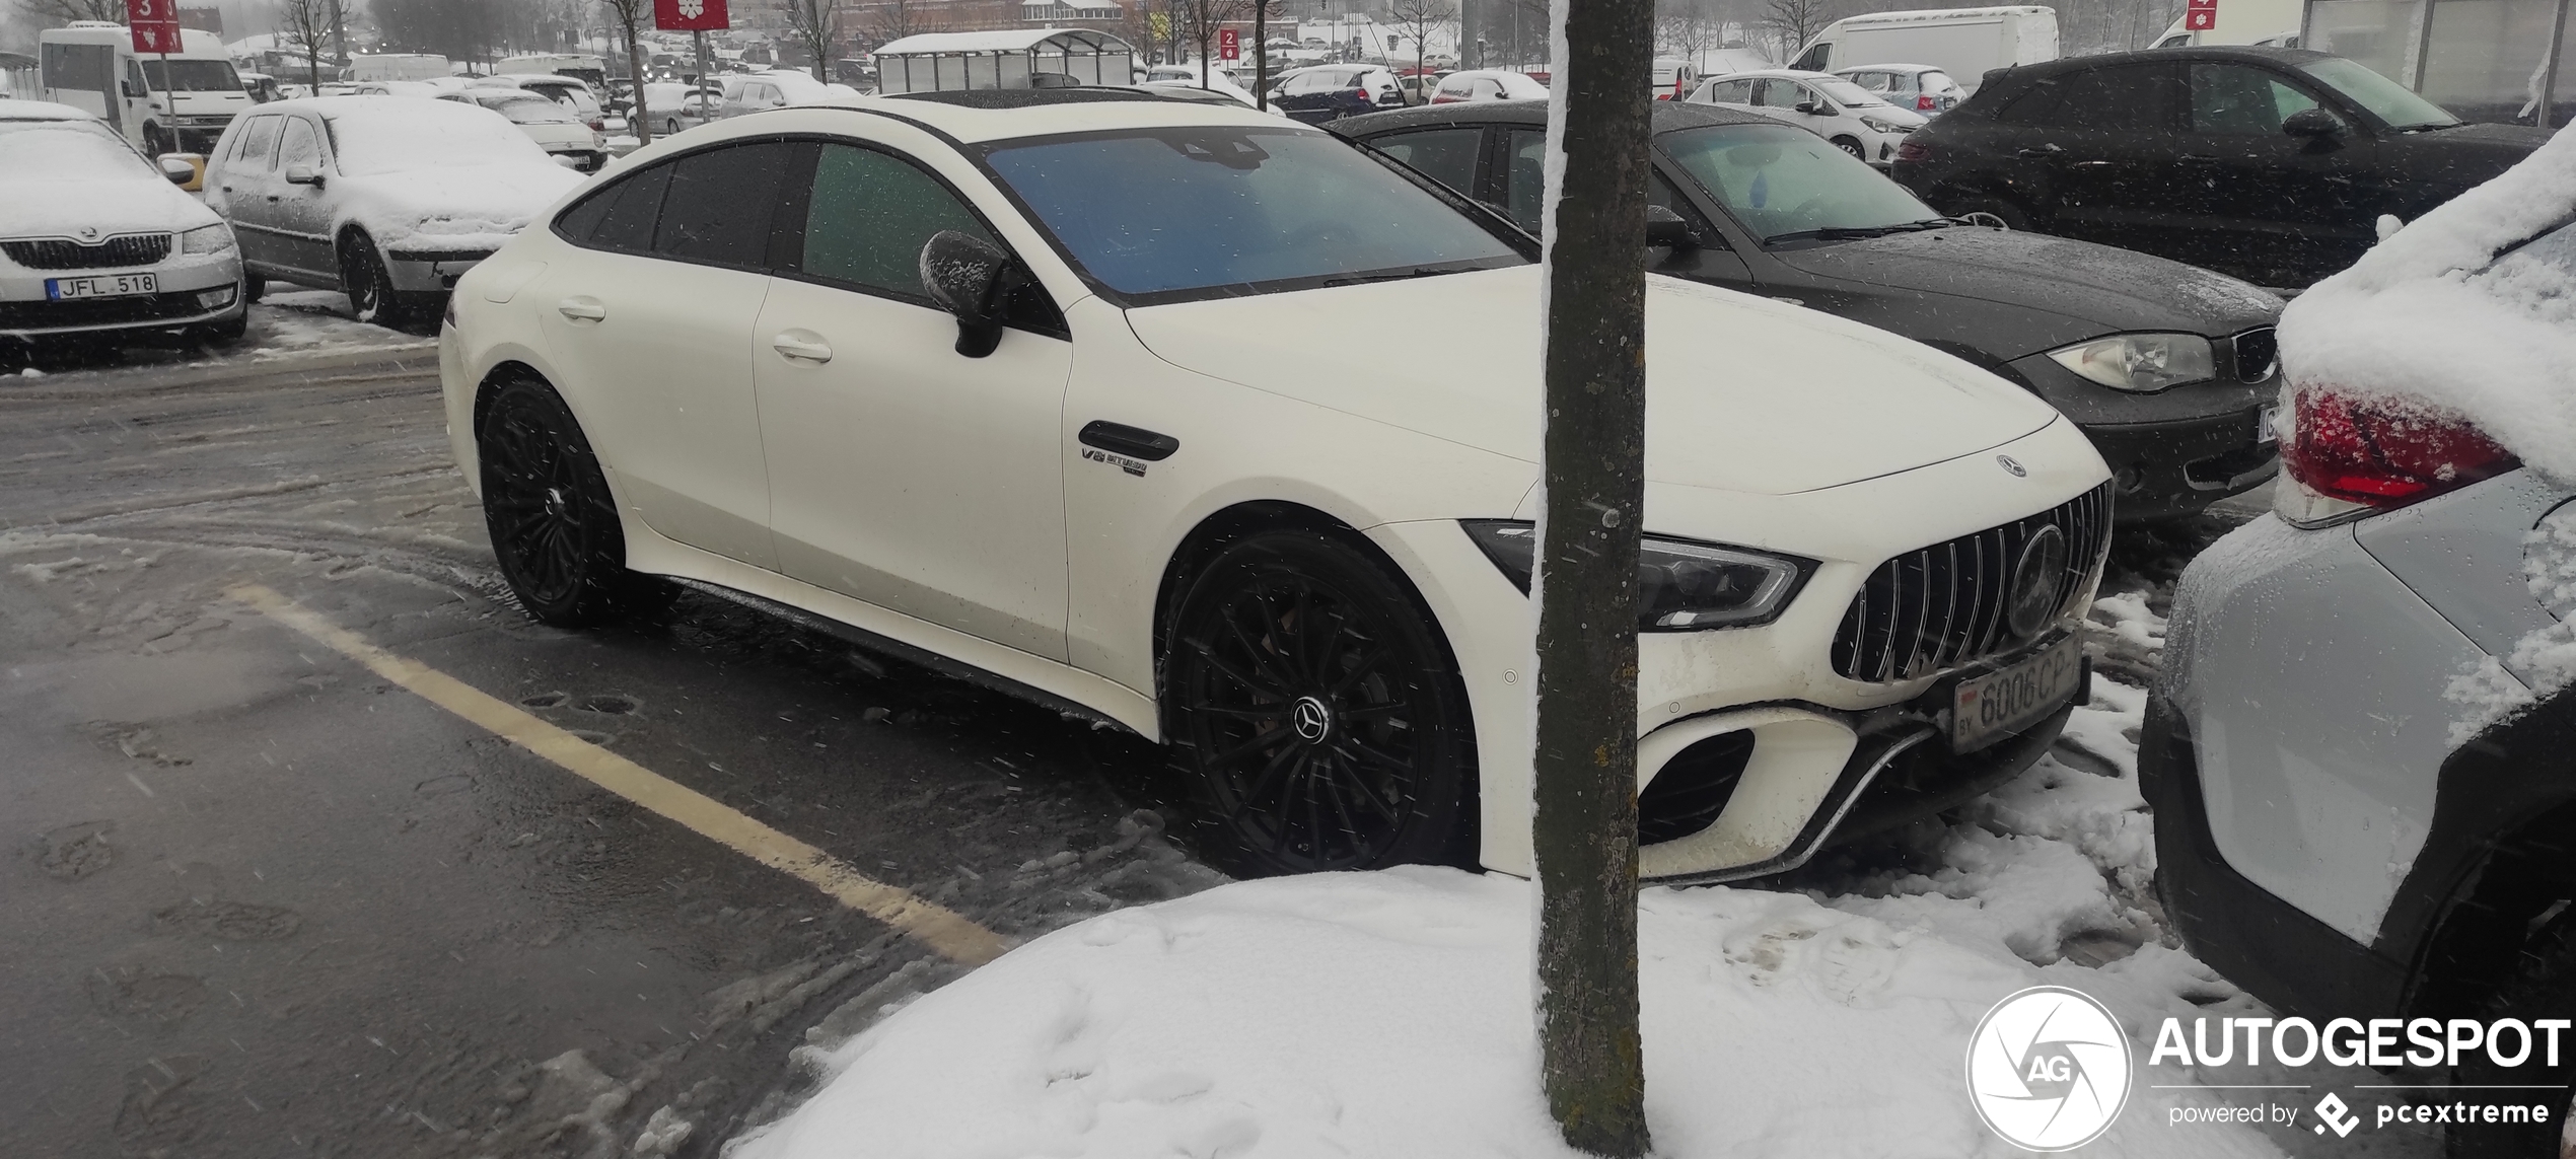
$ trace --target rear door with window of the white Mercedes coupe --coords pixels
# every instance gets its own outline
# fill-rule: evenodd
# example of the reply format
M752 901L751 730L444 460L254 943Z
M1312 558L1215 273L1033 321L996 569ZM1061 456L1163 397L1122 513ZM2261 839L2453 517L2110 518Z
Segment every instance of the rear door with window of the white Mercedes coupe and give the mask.
M724 144L603 185L559 221L587 252L523 291L541 304L554 366L595 422L592 443L631 513L667 538L768 569L778 554L752 327L770 291L770 206L788 188L793 149Z

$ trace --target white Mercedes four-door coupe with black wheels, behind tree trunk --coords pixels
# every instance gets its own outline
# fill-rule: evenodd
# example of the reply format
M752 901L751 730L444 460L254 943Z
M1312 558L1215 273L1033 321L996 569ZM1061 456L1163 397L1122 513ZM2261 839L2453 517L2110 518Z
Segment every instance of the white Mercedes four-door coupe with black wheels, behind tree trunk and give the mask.
M459 283L440 379L546 623L675 577L1170 742L1236 871L1528 873L1535 258L1249 108L909 93L639 149ZM1811 309L1646 309L1643 873L2038 760L2110 541L2084 435Z

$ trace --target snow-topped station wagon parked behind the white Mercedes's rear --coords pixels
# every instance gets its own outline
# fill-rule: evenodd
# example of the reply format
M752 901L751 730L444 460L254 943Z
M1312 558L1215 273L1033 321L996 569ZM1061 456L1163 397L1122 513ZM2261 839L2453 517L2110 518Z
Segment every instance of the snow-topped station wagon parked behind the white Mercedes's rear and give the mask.
M252 299L265 278L343 288L389 325L435 317L459 276L582 183L489 108L392 95L270 100L206 165Z

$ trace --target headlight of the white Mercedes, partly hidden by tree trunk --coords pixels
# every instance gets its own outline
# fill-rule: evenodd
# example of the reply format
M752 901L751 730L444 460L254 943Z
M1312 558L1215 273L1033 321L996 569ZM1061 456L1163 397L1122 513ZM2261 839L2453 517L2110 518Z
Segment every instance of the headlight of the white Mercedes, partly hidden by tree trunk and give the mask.
M1522 592L1538 554L1538 528L1515 520L1466 520L1468 538ZM1718 543L1646 538L1636 559L1636 628L1749 628L1780 618L1814 561Z

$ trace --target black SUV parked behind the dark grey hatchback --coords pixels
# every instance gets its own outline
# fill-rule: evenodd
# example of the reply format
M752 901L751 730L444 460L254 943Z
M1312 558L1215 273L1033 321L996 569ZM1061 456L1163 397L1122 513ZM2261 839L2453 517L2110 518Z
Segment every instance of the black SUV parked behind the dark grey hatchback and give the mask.
M1893 175L1945 214L2306 288L2548 142L2463 124L2344 57L2151 49L1989 72Z

